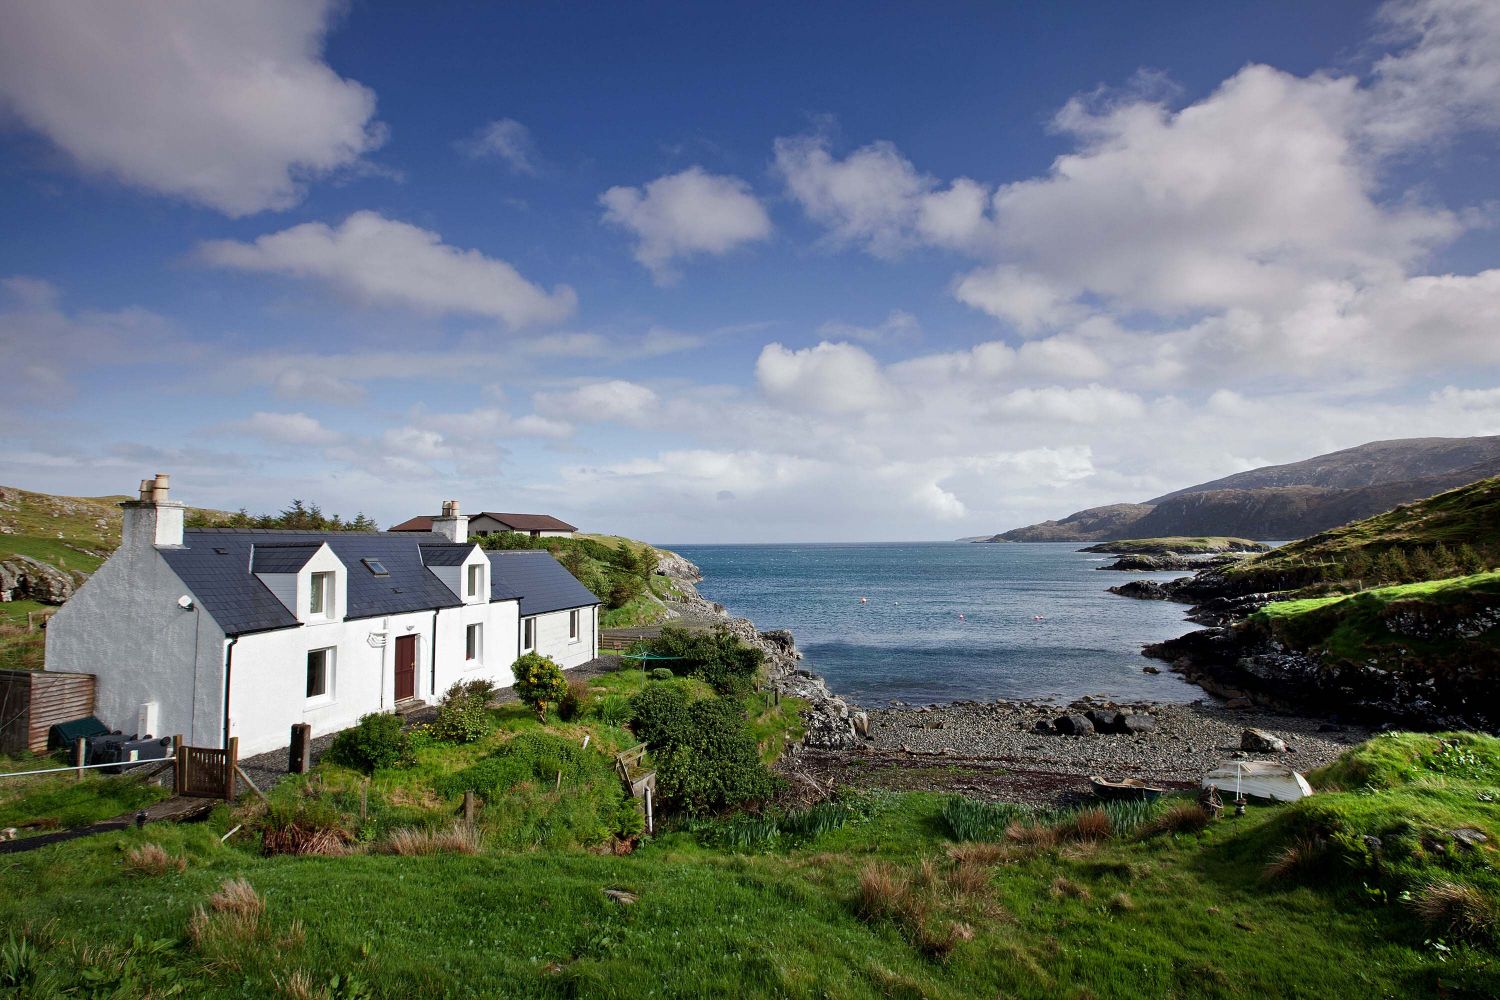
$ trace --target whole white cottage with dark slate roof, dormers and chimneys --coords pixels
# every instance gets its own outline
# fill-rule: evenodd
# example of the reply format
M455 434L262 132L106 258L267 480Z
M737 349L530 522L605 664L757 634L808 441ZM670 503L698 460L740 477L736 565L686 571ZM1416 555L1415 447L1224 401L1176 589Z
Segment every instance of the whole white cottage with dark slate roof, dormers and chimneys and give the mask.
M486 552L447 501L429 531L184 529L168 477L120 504L120 547L51 618L46 666L94 675L111 729L285 747L540 652L598 654L598 598L549 552Z

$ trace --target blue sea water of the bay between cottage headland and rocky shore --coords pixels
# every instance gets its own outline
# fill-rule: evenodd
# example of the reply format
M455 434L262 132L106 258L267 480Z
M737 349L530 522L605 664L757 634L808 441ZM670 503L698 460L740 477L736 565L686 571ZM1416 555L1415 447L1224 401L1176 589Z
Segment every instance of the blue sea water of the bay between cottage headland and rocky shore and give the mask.
M1046 543L670 547L702 568L704 597L762 631L789 628L806 666L866 708L1203 697L1166 669L1142 672L1143 643L1194 628L1186 609L1106 592L1180 573L1100 573L1112 556Z

